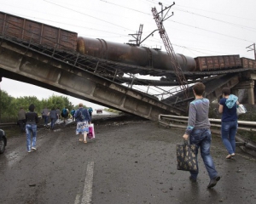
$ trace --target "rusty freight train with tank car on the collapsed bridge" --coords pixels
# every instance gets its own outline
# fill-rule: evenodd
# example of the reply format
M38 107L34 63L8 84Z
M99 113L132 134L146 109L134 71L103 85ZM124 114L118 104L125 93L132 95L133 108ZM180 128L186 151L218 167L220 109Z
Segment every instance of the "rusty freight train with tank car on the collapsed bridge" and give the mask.
M131 44L106 42L103 39L78 37L78 33L27 20L12 14L0 12L0 36L11 37L49 48L75 51L79 54L108 59L127 65L173 71L173 65L166 52L154 48L138 47ZM236 68L256 68L253 59L236 55L192 58L176 54L182 71L216 71ZM126 72L129 72L129 70ZM145 71L143 71L145 74ZM143 74L140 73L139 74Z

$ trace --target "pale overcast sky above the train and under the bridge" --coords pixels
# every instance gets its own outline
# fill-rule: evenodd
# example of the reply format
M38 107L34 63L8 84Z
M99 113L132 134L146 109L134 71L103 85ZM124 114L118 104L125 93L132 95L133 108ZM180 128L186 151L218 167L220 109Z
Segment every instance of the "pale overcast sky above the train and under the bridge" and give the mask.
M102 38L109 42L129 42L129 34L143 24L142 39L157 29L151 8L160 11L156 0L0 0L0 11L74 31L82 37ZM161 1L169 6L173 1ZM164 22L175 53L190 57L240 54L254 59L247 46L256 42L256 1L254 0L178 0L174 15ZM159 33L143 45L165 50ZM14 97L52 94L44 88L3 78L1 89ZM68 96L74 105L81 99ZM84 102L85 105L91 105ZM99 105L92 105L95 108Z

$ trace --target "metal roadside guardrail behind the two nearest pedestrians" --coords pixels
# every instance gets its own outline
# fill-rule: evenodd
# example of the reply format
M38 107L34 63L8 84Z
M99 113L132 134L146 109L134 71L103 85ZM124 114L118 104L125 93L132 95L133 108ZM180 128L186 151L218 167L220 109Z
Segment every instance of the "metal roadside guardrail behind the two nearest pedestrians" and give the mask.
M172 116L172 115L159 115L159 124L165 127L171 128L185 128L187 125L181 123L188 123L188 116ZM211 122L211 127L221 127L221 120L209 118ZM256 132L256 122L250 121L238 121L238 129L248 132ZM212 133L217 133L211 130ZM242 139L240 136L236 135L236 146L244 146L251 150L256 151L256 144L253 141Z

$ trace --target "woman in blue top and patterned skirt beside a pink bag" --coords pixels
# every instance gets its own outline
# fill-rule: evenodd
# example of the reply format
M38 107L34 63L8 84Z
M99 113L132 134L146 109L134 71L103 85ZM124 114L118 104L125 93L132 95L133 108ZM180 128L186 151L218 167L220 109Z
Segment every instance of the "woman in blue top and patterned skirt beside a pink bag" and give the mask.
M88 124L90 124L90 116L87 109L84 109L83 104L79 104L79 109L75 112L74 117L76 118L77 128L76 134L80 134L79 141L87 143L87 133L89 133Z

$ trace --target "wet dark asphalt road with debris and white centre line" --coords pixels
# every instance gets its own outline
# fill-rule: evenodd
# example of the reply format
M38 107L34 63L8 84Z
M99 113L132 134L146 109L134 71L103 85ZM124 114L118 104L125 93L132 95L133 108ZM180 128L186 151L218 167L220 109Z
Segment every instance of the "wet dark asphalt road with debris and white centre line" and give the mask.
M176 168L183 131L123 117L96 120L95 129L96 139L83 144L75 126L38 128L31 153L25 134L9 139L0 156L0 203L256 203L255 159L237 149L236 160L226 160L219 137L212 137L212 157L222 178L207 190L201 157L195 184Z

